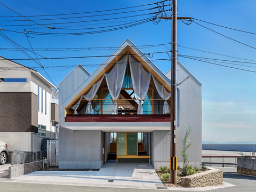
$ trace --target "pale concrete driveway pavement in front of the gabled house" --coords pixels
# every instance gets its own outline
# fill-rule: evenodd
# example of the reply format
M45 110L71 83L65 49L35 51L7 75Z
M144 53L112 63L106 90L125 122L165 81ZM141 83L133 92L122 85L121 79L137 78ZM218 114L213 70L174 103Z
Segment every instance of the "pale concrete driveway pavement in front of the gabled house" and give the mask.
M12 183L35 183L65 186L88 186L126 189L169 189L173 191L190 190L225 191L233 188L228 182L222 186L201 188L165 188L150 163L107 163L100 171L36 171L14 179L6 178L6 171L10 165L0 166L0 181ZM5 170L5 171L4 171ZM234 170L233 170L234 171ZM230 180L232 181L232 180ZM236 183L236 182L231 182ZM0 185L2 183L0 182ZM13 184L14 185L14 184Z

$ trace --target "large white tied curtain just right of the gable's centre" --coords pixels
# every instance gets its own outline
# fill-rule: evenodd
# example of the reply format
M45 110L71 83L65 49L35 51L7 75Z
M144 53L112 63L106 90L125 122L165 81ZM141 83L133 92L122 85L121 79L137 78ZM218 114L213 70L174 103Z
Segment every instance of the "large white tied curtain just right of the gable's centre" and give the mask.
M141 65L140 62L135 61L131 55L129 55L130 69L132 76L132 85L135 94L138 99L145 99L148 94L148 87L150 83L151 74L148 73ZM143 114L142 102L139 101L137 114Z

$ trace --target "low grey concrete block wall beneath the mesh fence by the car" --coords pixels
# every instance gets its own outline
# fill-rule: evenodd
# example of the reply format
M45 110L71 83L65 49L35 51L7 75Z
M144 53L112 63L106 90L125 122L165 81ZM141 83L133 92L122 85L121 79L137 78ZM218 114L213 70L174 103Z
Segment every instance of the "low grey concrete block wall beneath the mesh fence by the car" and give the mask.
M43 169L43 160L9 167L9 178L19 177Z

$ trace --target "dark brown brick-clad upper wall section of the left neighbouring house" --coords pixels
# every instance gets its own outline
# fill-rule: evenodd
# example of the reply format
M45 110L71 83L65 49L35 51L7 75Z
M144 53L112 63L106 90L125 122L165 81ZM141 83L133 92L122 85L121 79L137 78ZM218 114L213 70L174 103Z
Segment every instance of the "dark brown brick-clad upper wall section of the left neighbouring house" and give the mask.
M37 133L37 95L0 92L0 132Z

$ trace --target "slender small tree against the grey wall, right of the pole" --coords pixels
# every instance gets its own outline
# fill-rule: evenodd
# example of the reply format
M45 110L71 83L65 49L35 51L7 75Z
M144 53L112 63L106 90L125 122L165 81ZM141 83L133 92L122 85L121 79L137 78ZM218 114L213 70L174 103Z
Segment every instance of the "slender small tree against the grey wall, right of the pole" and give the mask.
M185 128L185 137L181 139L181 149L180 149L180 155L183 161L183 175L187 175L187 166L189 163L189 154L187 153L187 149L193 145L194 143L190 142L189 136L191 134L191 126L184 125Z

